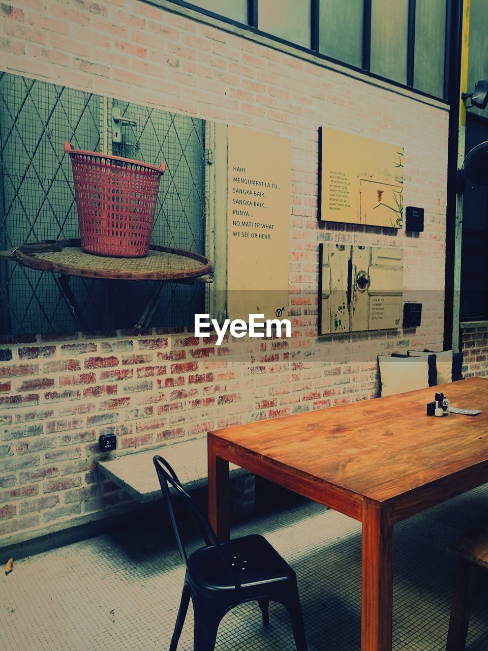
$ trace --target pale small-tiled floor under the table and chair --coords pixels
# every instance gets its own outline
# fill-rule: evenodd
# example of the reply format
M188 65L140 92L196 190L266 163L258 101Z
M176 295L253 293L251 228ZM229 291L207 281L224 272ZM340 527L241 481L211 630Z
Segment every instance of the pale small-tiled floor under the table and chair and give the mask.
M394 649L444 649L454 559L446 543L488 519L488 490L475 490L411 518L395 530ZM263 533L295 568L310 651L360 648L360 525L301 503L234 527ZM157 542L159 540L159 542ZM0 559L3 563L7 559ZM16 562L1 575L0 648L7 651L167 650L183 568L169 536L151 529L91 538ZM474 600L469 651L488 649L488 572ZM279 605L270 625L257 604L225 616L217 651L292 651ZM191 606L178 651L193 649Z

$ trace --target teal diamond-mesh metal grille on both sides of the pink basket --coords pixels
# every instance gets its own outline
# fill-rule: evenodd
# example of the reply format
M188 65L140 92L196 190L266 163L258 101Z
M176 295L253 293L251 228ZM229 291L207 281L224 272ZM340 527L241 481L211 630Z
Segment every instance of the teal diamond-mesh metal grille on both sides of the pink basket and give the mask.
M122 126L112 147L112 111L136 122ZM43 81L0 73L0 247L77 238L79 230L68 140L75 148L145 162L167 162L161 178L152 242L204 253L204 122L103 98ZM81 329L57 278L14 262L0 263L1 333ZM154 293L157 309L146 324L181 327L202 311L204 288L72 278L89 329L132 327Z

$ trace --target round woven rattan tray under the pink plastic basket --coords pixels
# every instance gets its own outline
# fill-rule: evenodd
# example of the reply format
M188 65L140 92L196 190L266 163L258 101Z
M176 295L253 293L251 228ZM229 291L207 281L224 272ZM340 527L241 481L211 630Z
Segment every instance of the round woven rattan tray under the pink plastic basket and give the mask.
M113 258L85 253L79 240L23 245L12 257L31 269L115 280L176 281L210 271L210 260L192 251L151 246L145 258Z

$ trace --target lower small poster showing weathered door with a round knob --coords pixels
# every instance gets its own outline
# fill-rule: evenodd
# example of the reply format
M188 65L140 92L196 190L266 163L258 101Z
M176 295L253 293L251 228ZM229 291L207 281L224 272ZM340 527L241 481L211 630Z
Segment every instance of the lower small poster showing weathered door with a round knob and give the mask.
M400 327L403 249L319 248L319 335Z

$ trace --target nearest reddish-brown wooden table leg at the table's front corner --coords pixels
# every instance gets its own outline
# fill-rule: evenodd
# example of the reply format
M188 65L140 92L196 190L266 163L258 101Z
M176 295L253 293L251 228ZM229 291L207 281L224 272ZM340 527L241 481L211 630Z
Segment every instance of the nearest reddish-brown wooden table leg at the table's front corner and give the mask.
M391 651L393 523L391 508L362 507L361 651Z

